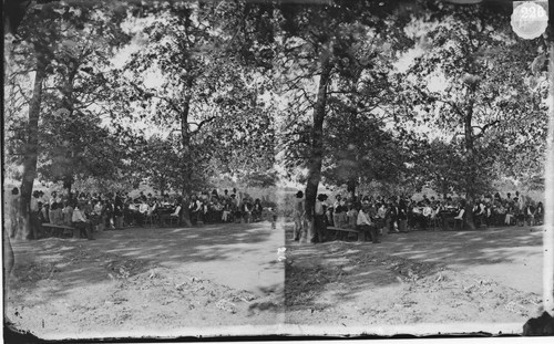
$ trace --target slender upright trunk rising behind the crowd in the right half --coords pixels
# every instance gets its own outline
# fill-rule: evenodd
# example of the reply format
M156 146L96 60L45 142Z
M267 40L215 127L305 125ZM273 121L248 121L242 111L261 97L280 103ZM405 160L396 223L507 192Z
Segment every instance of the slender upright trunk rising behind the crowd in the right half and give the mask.
M471 96L468 101L468 105L465 108L465 118L464 118L464 136L465 136L465 159L468 164L468 170L465 175L465 198L468 204L465 205L465 228L470 230L475 229L475 225L473 222L473 202L475 198L475 176L476 176L476 166L475 166L475 152L474 152L474 137L473 137L473 128L472 128L472 119L473 119L473 91L471 91Z

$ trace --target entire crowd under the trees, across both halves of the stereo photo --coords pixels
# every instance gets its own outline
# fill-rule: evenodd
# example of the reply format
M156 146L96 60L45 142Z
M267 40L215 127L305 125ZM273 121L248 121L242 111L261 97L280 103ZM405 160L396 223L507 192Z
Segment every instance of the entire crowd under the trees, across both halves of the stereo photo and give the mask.
M17 228L21 226L18 215L19 190L12 190L10 207L11 229L13 238ZM271 208L268 208L271 209ZM188 215L184 217L184 212ZM80 229L82 238L93 240L94 230L120 230L125 227L158 225L167 221L183 225L188 219L191 223L217 222L254 222L261 219L264 206L260 199L253 199L248 195L216 189L192 195L185 199L182 196L144 195L131 197L129 192L114 194L73 191L61 194L52 191L45 195L41 190L32 194L30 204L31 237L42 238L51 234L47 230L52 226L65 226ZM325 194L318 195L315 205L315 233L309 240L322 242L334 240L340 231L330 231L328 228L352 229L362 233L363 238L379 242L379 236L389 232L412 230L450 229L459 222L463 228L466 211L472 211L474 227L480 226L529 226L542 225L544 207L541 201L535 202L523 197L519 191L512 197L483 195L468 207L464 199L428 198L423 195L420 200L409 197L390 197L358 195L342 197L337 195L329 200ZM275 211L274 211L275 212ZM298 191L294 205L294 240L299 240L306 231L304 192ZM275 226L275 213L273 222ZM343 234L343 233L342 233Z

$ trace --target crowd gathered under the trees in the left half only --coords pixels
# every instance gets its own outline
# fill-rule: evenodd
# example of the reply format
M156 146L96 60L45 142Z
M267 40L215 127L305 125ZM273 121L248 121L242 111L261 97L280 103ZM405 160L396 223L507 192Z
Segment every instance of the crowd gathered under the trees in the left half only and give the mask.
M11 221L10 237L14 238L22 228L19 189L13 188L9 204ZM84 192L72 191L62 194L52 191L45 195L42 190L32 192L30 202L30 238L47 237L50 223L80 229L82 238L94 240L95 230L121 230L125 227L164 225L166 219L174 218L182 225L183 211L188 211L193 225L215 222L253 222L260 220L264 207L260 199L253 200L248 195L238 194L233 189L229 195L224 190L203 191L192 195L188 199L182 196L153 196L140 192L131 197L129 192Z

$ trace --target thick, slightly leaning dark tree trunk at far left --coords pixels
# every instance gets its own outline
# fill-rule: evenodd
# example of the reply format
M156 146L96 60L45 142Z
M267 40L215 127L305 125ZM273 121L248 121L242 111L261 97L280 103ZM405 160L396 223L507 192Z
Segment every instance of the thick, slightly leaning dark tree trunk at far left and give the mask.
M42 84L47 76L47 62L42 55L37 56L37 73L34 75L33 95L29 104L29 123L27 132L25 156L23 160L23 178L21 181L21 220L22 228L18 228L20 238L28 239L31 233L31 221L29 218L31 196L37 177L37 158L39 154L39 117L42 100Z

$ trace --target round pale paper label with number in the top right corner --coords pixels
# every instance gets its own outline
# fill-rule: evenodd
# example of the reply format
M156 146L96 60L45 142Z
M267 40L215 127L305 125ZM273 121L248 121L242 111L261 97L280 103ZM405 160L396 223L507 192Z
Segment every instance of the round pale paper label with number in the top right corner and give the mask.
M512 13L512 29L523 39L536 39L544 33L547 25L548 14L544 8L537 3L522 3L516 7Z

